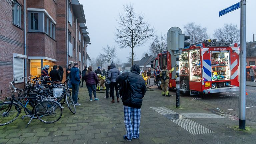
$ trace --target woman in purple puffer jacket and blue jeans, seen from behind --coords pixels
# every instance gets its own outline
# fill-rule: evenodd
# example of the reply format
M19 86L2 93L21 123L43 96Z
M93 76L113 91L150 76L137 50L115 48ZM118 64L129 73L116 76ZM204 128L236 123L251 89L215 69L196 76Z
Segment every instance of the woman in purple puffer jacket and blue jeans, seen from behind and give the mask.
M92 101L92 92L94 100L99 100L96 96L96 84L99 83L99 80L96 73L92 71L92 66L89 66L88 70L86 71L85 82L90 96L90 101Z

